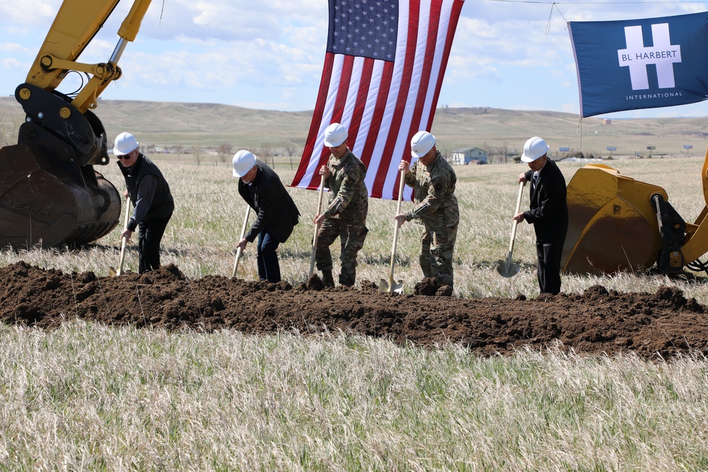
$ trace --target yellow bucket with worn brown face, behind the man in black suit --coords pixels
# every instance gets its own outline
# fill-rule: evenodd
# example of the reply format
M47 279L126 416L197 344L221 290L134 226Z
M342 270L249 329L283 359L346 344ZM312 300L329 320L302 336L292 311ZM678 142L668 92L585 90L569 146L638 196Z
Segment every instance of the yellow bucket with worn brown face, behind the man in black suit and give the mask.
M651 267L662 248L653 198L661 187L589 164L568 184L569 225L561 258L564 272L611 274Z

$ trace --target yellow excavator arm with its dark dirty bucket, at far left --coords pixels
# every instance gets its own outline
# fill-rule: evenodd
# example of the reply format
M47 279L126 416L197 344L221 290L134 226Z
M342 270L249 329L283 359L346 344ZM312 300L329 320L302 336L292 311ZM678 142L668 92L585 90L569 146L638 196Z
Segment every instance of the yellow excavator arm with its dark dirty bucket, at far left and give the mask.
M108 164L103 124L91 109L120 79L118 59L135 40L150 0L135 0L106 62L79 56L120 0L64 0L15 98L25 111L18 142L0 149L0 246L76 246L118 225L121 198L93 166ZM71 71L91 79L69 97L57 88Z

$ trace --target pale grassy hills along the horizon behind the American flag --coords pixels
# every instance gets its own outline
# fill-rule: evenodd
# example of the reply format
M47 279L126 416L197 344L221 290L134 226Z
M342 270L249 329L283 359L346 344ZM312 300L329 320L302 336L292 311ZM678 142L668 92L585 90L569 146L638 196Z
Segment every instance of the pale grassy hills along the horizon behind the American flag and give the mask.
M302 154L312 111L280 112L251 110L214 103L99 100L94 110L109 139L123 131L133 132L143 145L199 146L201 149L263 147L285 154L288 146ZM0 97L0 139L14 142L23 120L13 97ZM635 120L582 121L571 113L498 108L438 108L431 130L441 151L480 147L492 154L519 154L531 136L541 136L558 156L561 147L589 156L613 154L644 156L704 154L708 146L708 117L652 118ZM648 146L655 149L649 151Z

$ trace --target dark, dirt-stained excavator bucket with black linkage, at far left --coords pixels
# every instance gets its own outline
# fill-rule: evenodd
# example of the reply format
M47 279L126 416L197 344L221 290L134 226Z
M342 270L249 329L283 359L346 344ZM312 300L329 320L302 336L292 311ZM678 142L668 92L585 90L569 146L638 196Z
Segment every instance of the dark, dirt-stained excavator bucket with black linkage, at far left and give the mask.
M79 246L105 236L118 225L121 201L93 170L108 163L103 125L62 96L21 88L31 91L21 101L27 120L18 144L0 149L0 247Z

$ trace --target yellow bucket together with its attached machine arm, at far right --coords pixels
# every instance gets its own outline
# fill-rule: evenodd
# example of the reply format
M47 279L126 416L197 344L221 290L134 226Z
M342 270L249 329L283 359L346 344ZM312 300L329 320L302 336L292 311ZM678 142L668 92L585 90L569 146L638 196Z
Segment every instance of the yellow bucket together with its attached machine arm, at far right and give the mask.
M561 258L564 272L636 272L656 265L664 273L707 270L708 151L701 175L706 206L684 221L663 188L589 164L568 184L569 226Z

